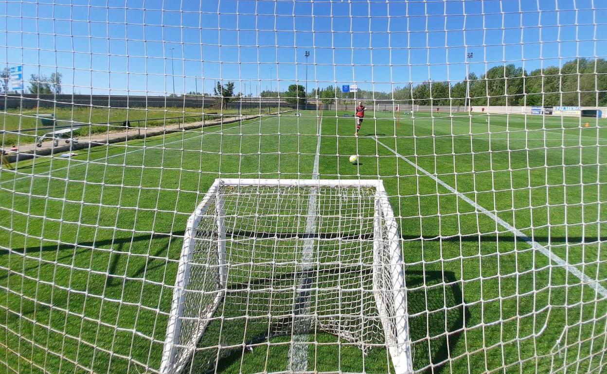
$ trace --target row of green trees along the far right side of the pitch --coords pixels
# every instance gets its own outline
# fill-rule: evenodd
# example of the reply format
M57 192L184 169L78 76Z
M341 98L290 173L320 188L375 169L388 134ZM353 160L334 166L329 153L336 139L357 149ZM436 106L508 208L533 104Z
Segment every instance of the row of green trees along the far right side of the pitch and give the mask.
M527 72L514 64L495 66L481 76L470 73L463 81L426 81L396 87L393 92L358 90L361 99L396 100L402 104L466 105L469 84L471 105L544 105L544 106L606 106L607 60L578 58L561 68L538 68ZM305 97L319 98L323 104L335 99L353 99L353 93L342 93L340 87L315 88L305 95L303 86L291 85L280 97L305 103ZM299 92L299 99L295 93ZM277 97L279 92L263 91L262 97Z

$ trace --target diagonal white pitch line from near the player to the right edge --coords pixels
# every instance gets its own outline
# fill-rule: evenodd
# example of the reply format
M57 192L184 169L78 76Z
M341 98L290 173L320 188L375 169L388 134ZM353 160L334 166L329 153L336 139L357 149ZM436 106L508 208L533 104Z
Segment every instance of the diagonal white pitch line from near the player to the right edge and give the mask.
M533 247L533 249L535 249L538 252L542 253L544 256L548 257L551 261L553 261L556 264L564 267L566 271L568 271L569 273L571 273L572 275L574 275L578 279L580 279L580 281L582 281L583 284L586 284L587 286L589 286L592 289L594 289L595 292L598 292L601 295L607 297L607 289L605 289L605 287L601 286L599 284L599 282L595 281L595 279L592 279L588 275L580 272L580 270L578 270L577 267L575 267L574 265L569 264L564 259L560 258L558 255L555 255L551 250L549 250L548 248L544 247L543 245L541 245L537 241L534 241L533 239L529 238L529 236L524 235L524 233L522 233L520 230L517 230L514 226L510 225L508 222L504 221L503 219L501 219L497 215L493 214L492 212L489 212L489 210L484 209L483 207L481 207L481 205L478 205L475 201L473 201L472 199L468 198L463 193L458 192L457 190L455 190L453 187L451 187L446 182L441 181L441 179L438 179L432 173L427 172L427 170L423 169L421 166L419 166L415 162L411 161L410 159L406 158L405 156L402 156L400 153L398 153L395 150L393 150L392 148L388 147L387 145L385 145L384 143L382 143L378 139L375 139L375 141L378 142L378 144L381 144L385 149L387 149L390 152L394 153L398 158L403 159L405 162L407 162L407 164L412 165L413 167L415 167L415 169L419 170L419 172L421 172L424 175L427 175L430 178L434 179L434 181L436 181L438 184L442 185L447 190L449 190L450 192L452 192L455 195L457 195L458 198L462 199L463 201L466 201L468 204L470 204L473 207L475 207L475 209L478 210L479 212L481 212L484 215L488 216L489 218L493 219L493 221L497 222L501 227L504 227L504 229L506 229L506 230L514 233L514 235L517 236L518 239L521 239L522 241L524 241L527 244L531 245Z

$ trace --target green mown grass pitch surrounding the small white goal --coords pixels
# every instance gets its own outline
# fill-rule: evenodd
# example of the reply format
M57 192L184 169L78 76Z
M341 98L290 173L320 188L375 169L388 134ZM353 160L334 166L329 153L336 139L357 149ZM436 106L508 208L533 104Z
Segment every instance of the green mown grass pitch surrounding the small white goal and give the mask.
M316 114L0 169L0 372L158 370L188 216L218 176L311 178ZM402 236L415 369L602 370L605 296L420 169L607 287L607 121L416 113L397 126L392 113L376 116L354 138L353 118L325 111L319 173L384 181ZM289 348L278 343L288 341L217 367L286 370ZM363 356L333 335L310 341L308 370L388 370L381 347Z

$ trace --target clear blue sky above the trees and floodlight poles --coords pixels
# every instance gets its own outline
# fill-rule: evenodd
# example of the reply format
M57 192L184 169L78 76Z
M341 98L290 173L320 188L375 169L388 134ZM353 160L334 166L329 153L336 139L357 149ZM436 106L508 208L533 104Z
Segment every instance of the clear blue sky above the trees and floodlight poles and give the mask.
M595 7L593 10L592 7ZM389 91L607 55L605 1L40 0L0 5L0 59L63 75L64 93L257 95L352 84ZM595 20L595 21L594 21ZM594 22L597 22L596 24ZM171 49L174 48L174 49ZM171 58L172 53L172 58ZM172 72L174 69L174 73ZM26 82L27 86L27 82Z

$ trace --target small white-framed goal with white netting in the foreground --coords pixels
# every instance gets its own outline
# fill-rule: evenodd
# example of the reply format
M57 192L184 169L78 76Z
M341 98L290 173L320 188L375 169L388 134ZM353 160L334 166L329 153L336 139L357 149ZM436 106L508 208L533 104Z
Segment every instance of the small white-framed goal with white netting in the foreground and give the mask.
M383 346L397 374L412 373L399 240L381 180L216 179L188 219L160 372L183 372L199 354L212 364L229 337L208 330L232 323L250 349L317 329L363 352ZM249 336L254 324L267 332Z

